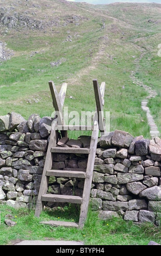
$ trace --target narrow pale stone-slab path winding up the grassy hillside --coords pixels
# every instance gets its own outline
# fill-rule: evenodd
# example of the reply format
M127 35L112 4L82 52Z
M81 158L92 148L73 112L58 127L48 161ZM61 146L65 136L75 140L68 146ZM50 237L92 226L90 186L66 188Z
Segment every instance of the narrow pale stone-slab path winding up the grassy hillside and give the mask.
M133 84L143 87L146 90L146 92L148 93L148 96L146 96L146 98L143 101L141 101L141 108L143 109L143 111L146 112L147 122L148 122L148 125L150 126L150 136L151 136L151 138L154 138L157 136L159 137L160 132L158 131L158 127L155 124L154 119L150 113L150 109L147 107L147 103L148 103L149 99L157 96L157 92L156 92L156 90L152 90L152 88L150 86L147 86L147 84L144 84L142 81L139 81L136 77L136 74L137 74L137 72L139 72L139 69L140 69L140 65L139 65L140 60L144 57L144 54L145 54L144 51L141 52L140 57L136 58L134 60L136 68L135 68L135 71L131 72L130 77L133 81Z

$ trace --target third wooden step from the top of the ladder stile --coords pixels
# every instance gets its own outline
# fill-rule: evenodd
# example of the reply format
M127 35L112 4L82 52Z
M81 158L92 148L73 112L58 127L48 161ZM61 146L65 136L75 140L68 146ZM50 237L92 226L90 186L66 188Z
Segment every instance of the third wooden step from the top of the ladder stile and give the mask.
M86 177L85 172L81 170L47 170L46 176L56 177L69 177L69 178L84 178Z

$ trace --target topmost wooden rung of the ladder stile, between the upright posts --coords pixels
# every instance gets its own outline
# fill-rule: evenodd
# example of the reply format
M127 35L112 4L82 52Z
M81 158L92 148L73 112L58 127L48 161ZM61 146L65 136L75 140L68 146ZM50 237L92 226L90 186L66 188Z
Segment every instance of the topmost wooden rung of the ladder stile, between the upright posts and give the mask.
M54 130L58 131L93 131L93 125L58 125Z

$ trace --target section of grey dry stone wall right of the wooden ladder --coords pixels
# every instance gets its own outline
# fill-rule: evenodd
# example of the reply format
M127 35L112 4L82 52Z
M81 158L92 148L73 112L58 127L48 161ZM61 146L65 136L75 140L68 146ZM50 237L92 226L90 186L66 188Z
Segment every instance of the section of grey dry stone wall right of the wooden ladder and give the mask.
M104 219L122 215L135 222L156 221L161 206L160 160L158 137L134 138L119 130L102 136L92 178L92 208Z

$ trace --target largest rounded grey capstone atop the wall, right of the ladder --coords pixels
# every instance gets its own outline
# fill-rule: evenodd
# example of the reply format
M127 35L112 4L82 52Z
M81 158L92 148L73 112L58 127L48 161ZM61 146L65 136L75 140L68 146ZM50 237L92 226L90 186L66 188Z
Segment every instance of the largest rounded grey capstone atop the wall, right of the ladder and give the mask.
M134 137L125 131L115 130L112 137L112 144L120 148L128 148Z

